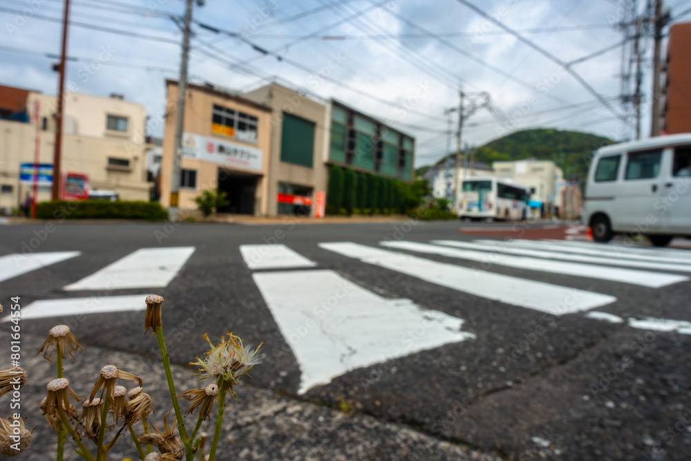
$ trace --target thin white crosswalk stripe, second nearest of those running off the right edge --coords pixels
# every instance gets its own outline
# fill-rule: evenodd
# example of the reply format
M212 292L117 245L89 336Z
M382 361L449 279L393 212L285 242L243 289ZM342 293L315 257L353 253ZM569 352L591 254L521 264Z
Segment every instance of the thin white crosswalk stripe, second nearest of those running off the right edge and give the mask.
M635 259L616 258L615 255L589 256L587 254L555 252L555 250L540 250L540 247L520 245L515 242L504 243L499 241L476 241L478 243L460 242L455 240L435 240L432 243L448 245L451 247L466 248L468 250L481 250L499 252L503 254L515 254L518 256L533 256L536 258L557 259L561 261L576 261L579 263L594 263L605 265L625 265L626 267L640 267L642 269L664 270L667 272L691 272L690 264L661 263L653 261L638 261ZM480 243L482 242L482 243Z

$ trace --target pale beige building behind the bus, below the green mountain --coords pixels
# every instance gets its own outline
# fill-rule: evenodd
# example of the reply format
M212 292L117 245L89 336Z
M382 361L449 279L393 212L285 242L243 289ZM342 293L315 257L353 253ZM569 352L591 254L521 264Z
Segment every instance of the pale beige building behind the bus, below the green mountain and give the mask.
M494 162L495 176L511 178L518 184L534 189L531 200L538 200L549 209L558 206L564 173L551 160L517 160L515 162Z

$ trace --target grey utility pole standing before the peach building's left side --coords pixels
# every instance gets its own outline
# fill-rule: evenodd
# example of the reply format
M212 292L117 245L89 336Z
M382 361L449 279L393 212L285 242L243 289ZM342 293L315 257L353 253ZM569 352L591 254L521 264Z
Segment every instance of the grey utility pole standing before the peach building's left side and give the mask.
M184 129L184 102L187 93L187 55L189 54L190 23L192 22L192 0L185 1L184 23L182 24L182 58L180 81L178 82L178 106L176 108L175 142L173 144L173 171L171 173L171 196L168 214L171 219L178 216L180 202L180 158L182 158L182 130Z

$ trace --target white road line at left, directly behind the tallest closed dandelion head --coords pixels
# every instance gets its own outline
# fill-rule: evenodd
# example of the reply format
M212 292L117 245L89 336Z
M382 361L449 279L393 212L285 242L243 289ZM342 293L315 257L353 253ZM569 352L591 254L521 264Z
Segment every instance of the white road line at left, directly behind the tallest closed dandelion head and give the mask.
M100 298L44 299L34 301L21 308L21 319L43 319L45 317L63 317L67 315L104 314L127 310L146 309L147 294L111 296ZM3 321L8 321L6 317Z

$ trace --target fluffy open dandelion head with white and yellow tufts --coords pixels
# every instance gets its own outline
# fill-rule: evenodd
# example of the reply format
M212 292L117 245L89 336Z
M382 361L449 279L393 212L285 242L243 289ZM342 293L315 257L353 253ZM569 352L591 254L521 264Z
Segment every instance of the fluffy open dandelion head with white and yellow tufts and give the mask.
M190 362L190 365L200 367L199 373L196 374L200 377L199 381L207 378L214 379L219 388L225 383L236 399L233 386L238 384L240 377L247 375L256 364L261 364L262 357L257 355L257 352L262 345L259 344L255 350L252 350L252 346L244 346L242 339L232 333L228 333L228 341L225 337L221 338L218 346L214 346L207 335L204 335L204 339L211 346L211 350L205 353L204 360L196 357L197 361Z

